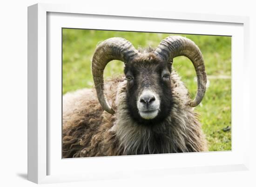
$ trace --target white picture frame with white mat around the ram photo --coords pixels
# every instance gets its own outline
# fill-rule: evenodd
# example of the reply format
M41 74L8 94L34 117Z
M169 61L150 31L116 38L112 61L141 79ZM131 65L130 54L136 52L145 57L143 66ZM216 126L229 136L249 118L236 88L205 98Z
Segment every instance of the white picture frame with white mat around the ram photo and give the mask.
M94 21L90 21L91 19ZM105 24L101 22L104 19L108 19L108 21L105 21ZM126 22L127 24L120 23L115 25L111 23L110 19L115 22ZM87 20L87 22L84 23L84 20ZM147 27L146 22L154 22L154 24L159 24L159 26L152 30L152 28ZM143 25L143 23L145 24ZM168 27L165 27L165 30L162 28L163 24L169 23L177 24L178 26L174 27L176 30L170 30ZM232 39L232 151L61 159L59 156L61 154L59 151L60 147L58 145L58 141L61 143L61 139L57 138L58 141L54 142L52 138L53 135L61 135L59 132L61 128L51 125L53 124L52 120L56 120L56 123L58 123L61 116L59 118L52 118L49 112L50 110L56 112L60 110L58 107L54 109L54 106L59 106L60 103L58 101L60 100L49 99L58 97L58 95L53 95L55 93L53 89L58 88L61 84L60 64L58 64L61 58L61 36L58 36L60 34L59 29L62 27L89 27L91 29L185 33L184 27L186 24L197 25L197 27L190 26L190 30L187 29L187 33L234 34L234 39ZM143 27L139 27L139 25L143 25ZM203 29L200 31L202 25L209 27L208 32L203 31ZM183 32L180 32L182 28ZM113 11L111 8L95 9L78 5L36 4L29 6L28 180L35 183L52 183L127 177L136 178L177 173L192 174L248 170L249 132L245 130L249 129L248 48L248 17L172 13L143 9L135 9L133 12L126 10ZM242 52L236 52L238 50L242 50ZM238 61L240 66L238 66ZM242 79L236 76L238 73L241 75L241 71ZM52 75L53 72L54 76ZM236 86L237 84L240 87L242 84L243 89L239 89ZM237 101L236 98L238 97L242 99ZM169 164L165 164L164 161L167 160L170 160ZM193 163L190 160L193 160ZM151 161L153 164L147 165L148 161ZM135 166L132 163L136 163ZM79 167L83 164L86 164L86 169ZM66 168L67 172L63 172L63 168ZM68 170L72 171L72 168L76 169L76 173L68 172Z

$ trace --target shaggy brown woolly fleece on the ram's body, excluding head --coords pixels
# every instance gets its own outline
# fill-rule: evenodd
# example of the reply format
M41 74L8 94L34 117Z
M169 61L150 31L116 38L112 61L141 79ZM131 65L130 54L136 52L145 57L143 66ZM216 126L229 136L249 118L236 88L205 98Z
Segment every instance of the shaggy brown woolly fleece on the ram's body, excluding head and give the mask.
M171 74L173 106L159 124L137 124L128 112L126 81L107 81L105 92L116 111L103 111L94 89L82 89L63 96L63 158L139 155L206 151L201 124L188 90L175 71Z

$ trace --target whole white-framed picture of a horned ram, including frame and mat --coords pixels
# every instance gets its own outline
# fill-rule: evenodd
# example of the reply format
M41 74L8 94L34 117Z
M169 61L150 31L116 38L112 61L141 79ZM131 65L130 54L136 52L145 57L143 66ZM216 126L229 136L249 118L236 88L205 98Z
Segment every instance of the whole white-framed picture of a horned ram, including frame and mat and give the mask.
M28 179L248 169L248 24L29 6Z

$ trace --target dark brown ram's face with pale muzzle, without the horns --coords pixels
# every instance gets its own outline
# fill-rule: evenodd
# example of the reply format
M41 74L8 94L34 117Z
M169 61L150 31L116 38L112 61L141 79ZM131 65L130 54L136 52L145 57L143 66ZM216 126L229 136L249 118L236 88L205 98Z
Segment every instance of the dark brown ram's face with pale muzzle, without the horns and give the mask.
M127 104L138 123L159 123L171 110L171 64L160 58L133 60L125 67Z

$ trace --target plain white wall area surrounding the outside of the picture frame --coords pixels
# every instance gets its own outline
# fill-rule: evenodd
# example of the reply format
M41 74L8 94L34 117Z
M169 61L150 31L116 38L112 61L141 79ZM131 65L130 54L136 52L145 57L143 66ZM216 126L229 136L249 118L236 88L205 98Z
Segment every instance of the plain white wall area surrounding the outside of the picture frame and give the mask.
M35 186L27 178L27 6L38 2L71 3L68 0L8 0L0 4L0 186ZM73 0L72 3L85 2ZM116 3L115 3L116 2ZM250 171L170 175L135 180L93 181L43 186L256 186L255 93L256 13L253 1L223 0L88 0L84 6L133 7L188 13L250 16L251 153Z

